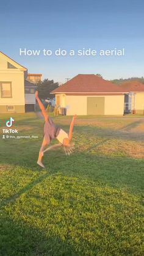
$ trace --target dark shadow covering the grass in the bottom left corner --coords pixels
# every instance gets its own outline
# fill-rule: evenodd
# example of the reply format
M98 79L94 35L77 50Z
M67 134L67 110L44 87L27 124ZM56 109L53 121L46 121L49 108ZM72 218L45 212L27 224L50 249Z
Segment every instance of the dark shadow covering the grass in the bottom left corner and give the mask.
M8 216L1 218L0 251L2 256L78 255L67 239L62 241L50 232L46 236L43 231Z

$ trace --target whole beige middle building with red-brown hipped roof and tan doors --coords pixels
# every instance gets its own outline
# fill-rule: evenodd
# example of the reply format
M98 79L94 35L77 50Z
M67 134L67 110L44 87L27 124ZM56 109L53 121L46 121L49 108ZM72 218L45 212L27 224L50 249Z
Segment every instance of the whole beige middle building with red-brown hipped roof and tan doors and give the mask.
M123 89L96 75L77 75L51 93L67 115L124 114Z

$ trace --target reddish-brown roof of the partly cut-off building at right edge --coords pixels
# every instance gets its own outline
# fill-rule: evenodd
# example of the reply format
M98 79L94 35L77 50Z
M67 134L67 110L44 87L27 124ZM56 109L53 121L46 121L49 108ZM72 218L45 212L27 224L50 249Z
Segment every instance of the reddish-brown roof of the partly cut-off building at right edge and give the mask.
M123 82L120 87L123 92L144 92L144 84L137 80Z

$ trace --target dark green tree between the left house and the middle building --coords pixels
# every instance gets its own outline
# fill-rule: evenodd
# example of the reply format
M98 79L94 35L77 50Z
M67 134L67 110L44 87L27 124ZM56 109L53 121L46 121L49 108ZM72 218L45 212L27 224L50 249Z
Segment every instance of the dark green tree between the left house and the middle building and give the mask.
M42 82L38 83L38 95L43 100L45 100L46 98L54 98L54 95L50 94L50 92L52 92L52 90L56 89L57 87L59 87L58 82L54 82L54 80L44 79Z

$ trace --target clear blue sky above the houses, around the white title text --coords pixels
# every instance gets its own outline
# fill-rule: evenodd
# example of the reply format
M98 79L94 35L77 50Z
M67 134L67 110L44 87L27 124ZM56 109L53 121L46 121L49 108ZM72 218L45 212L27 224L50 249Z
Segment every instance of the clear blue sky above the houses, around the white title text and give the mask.
M143 0L1 1L0 50L29 73L65 82L78 73L144 76ZM20 56L24 49L125 49L124 56Z

